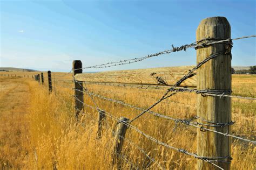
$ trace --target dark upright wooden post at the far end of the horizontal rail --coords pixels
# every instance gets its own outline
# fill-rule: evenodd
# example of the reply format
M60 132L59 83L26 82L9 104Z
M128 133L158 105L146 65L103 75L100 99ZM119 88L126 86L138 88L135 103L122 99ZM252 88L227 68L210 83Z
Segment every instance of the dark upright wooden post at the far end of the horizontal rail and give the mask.
M74 60L73 61L73 76L75 77L76 74L83 73L83 65L82 61ZM84 93L83 93L83 82L82 81L75 81L75 115L78 117L79 113L84 109Z

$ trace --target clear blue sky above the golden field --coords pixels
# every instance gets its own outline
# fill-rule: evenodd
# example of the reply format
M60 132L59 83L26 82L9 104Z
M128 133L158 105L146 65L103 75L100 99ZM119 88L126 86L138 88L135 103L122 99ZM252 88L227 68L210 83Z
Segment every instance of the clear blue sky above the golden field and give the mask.
M255 1L1 1L0 67L70 71L196 40L200 20L223 16L232 38L255 33ZM255 38L234 41L233 66L256 65ZM103 71L196 64L196 51Z

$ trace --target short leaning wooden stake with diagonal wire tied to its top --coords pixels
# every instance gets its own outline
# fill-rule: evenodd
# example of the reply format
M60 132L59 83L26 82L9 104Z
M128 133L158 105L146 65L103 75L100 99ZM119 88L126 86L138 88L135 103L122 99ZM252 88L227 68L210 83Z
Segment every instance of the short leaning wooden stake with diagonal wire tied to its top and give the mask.
M123 122L123 123L122 123ZM112 153L112 164L117 165L117 169L121 169L122 161L120 159L120 153L124 144L125 133L128 126L124 123L129 123L129 119L120 117L118 121L117 131L114 137L114 147Z

